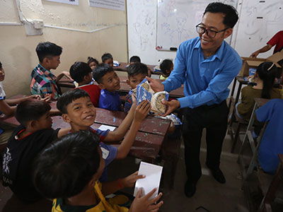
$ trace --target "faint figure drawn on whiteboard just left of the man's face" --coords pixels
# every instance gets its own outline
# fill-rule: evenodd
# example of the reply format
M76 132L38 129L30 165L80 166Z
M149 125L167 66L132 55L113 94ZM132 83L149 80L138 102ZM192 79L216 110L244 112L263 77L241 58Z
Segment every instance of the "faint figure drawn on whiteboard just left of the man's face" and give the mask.
M170 34L171 45L177 47L181 42L189 38L189 33L185 29L185 23L187 23L187 14L180 12L176 14L177 28Z

